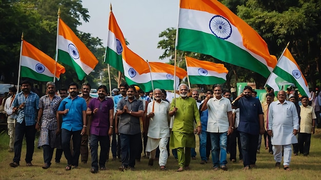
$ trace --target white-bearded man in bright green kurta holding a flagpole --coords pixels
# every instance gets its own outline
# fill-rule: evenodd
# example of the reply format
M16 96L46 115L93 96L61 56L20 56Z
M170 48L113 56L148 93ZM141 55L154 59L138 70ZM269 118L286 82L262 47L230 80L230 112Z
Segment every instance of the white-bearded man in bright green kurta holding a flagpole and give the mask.
M195 148L194 124L196 121L197 134L200 127L199 112L194 98L189 98L189 88L186 84L180 84L179 98L172 100L169 111L174 116L173 128L170 138L170 148L177 149L178 172L189 169L191 162L191 148ZM195 120L195 121L194 121ZM184 152L185 148L185 152Z

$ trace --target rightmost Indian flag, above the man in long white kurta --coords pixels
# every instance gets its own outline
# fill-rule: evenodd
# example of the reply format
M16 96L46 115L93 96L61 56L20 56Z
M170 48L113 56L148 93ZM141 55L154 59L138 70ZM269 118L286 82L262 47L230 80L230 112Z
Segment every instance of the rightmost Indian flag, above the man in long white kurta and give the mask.
M282 90L279 89L277 78L282 78L289 83L293 83L302 96L311 98L307 80L304 78L288 48L285 49L283 55L277 61L273 72L266 82L266 85L272 87L274 91Z

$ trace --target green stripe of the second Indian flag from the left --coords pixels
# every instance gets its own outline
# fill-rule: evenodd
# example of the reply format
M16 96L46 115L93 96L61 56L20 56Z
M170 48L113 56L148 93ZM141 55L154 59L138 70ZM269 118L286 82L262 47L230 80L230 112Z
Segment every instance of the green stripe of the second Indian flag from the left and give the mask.
M78 76L79 80L83 80L87 74L83 71L81 66L79 66L69 55L69 53L63 51L63 50L58 50L58 61L63 62L69 66L71 66L75 71Z

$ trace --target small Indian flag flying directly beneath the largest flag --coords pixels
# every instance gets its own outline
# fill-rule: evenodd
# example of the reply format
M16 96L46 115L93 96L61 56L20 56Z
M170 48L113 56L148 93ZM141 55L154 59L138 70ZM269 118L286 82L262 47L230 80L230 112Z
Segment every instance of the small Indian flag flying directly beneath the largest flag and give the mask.
M222 84L229 72L224 64L186 57L186 68L191 84Z

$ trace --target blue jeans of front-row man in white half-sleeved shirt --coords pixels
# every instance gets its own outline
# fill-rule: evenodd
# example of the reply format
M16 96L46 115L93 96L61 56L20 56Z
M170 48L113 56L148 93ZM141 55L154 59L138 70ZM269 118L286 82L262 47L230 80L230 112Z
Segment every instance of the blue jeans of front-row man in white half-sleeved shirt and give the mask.
M210 136L213 167L226 165L227 132L210 132Z

